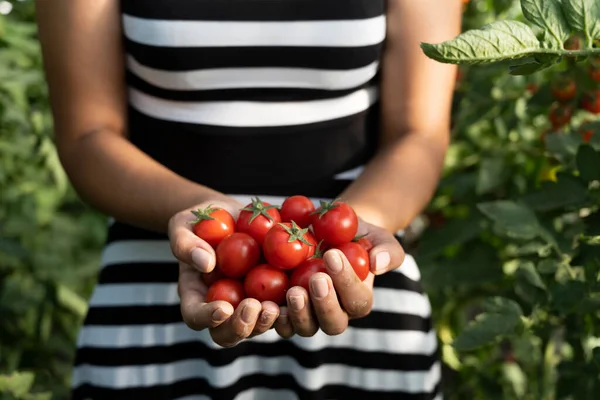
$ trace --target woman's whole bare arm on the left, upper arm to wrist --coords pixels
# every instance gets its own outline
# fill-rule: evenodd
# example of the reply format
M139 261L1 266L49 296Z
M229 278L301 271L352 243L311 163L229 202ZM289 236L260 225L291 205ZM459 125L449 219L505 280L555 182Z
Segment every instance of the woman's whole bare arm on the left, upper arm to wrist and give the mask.
M173 173L126 137L116 0L36 0L56 144L78 193L102 212L166 232L178 211L225 198Z

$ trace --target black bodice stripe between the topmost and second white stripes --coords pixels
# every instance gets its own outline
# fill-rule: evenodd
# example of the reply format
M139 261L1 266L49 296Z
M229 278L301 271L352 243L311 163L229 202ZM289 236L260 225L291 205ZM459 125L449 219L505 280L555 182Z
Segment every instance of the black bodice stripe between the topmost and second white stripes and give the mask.
M294 67L355 69L379 60L383 44L365 47L158 47L126 39L140 64L166 71L204 68Z

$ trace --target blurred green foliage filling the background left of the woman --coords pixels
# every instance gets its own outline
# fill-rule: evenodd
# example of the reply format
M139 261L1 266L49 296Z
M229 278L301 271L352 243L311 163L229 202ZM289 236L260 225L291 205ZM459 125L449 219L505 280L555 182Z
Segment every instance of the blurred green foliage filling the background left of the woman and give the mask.
M30 1L0 15L3 400L67 397L106 225L79 202L58 160L36 32Z

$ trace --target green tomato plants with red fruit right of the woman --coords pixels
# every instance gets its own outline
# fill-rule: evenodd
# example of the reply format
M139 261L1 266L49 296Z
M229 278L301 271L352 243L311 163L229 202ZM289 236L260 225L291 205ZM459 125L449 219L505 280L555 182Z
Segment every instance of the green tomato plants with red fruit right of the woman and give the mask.
M600 3L472 0L464 16L460 36L422 46L461 64L454 140L415 249L447 397L596 399Z

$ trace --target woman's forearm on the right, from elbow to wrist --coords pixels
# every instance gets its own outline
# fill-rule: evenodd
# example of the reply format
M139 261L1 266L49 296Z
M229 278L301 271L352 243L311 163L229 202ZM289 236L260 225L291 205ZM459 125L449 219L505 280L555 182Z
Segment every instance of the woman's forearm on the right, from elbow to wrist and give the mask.
M382 149L341 197L367 222L403 229L431 200L447 146L425 134L405 135Z

